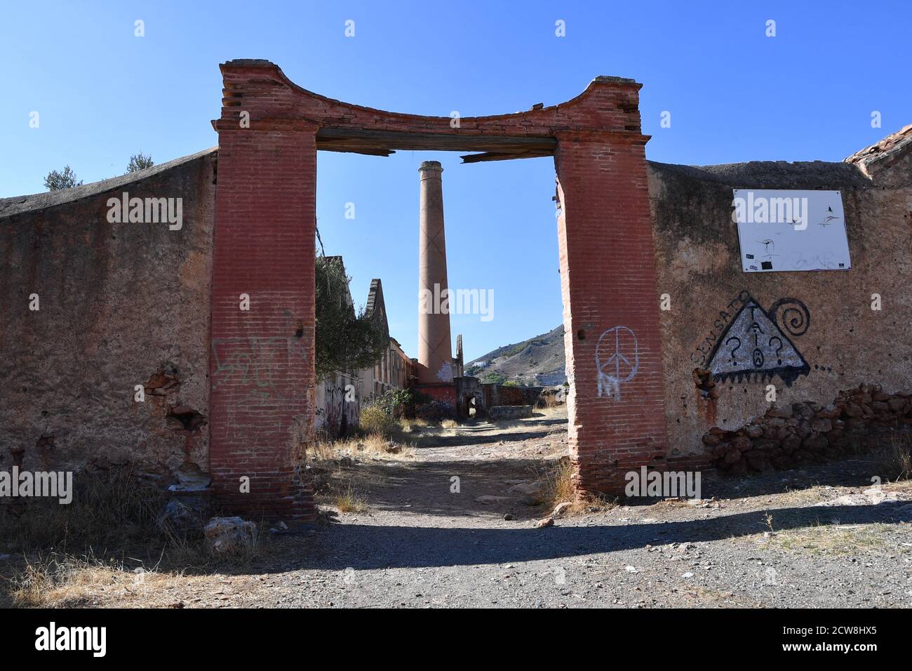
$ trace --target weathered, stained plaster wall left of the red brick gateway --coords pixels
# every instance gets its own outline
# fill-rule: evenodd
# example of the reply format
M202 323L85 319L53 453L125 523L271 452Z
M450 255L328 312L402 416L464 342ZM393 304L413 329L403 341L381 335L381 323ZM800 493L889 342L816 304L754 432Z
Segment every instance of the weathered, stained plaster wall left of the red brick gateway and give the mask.
M0 200L0 468L208 470L215 160ZM109 223L124 192L182 198L180 230Z

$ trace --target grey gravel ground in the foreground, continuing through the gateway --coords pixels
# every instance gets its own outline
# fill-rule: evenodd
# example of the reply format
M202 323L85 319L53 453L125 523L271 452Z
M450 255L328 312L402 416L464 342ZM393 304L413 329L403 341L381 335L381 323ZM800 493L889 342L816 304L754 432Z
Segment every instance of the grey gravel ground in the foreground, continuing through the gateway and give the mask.
M621 505L538 529L547 510L510 488L563 454L565 420L449 433L413 458L356 458L347 470L368 511L322 505L316 529L276 534L244 570L109 590L83 604L912 606L912 486L869 488L871 462L704 477L700 502Z

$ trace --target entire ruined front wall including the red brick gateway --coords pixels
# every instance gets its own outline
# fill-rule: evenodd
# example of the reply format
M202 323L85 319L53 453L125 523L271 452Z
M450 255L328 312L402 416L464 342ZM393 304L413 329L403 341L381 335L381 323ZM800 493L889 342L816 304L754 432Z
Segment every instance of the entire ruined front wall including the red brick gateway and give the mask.
M692 167L648 163L631 79L452 128L327 99L267 61L222 73L217 149L0 200L0 467L138 460L162 484L210 474L227 508L312 515L293 456L315 422L318 151L554 157L582 490L641 466L838 456L912 423L912 127L841 163ZM733 189L839 192L851 269L746 272ZM109 219L112 201L167 198L179 227Z

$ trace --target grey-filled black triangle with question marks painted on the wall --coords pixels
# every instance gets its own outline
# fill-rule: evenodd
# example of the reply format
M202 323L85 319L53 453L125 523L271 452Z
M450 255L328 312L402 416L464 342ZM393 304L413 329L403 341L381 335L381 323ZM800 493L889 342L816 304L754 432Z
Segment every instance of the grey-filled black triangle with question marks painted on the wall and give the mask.
M801 352L754 299L739 310L710 356L710 372L721 382L762 382L779 375L786 386L811 367Z

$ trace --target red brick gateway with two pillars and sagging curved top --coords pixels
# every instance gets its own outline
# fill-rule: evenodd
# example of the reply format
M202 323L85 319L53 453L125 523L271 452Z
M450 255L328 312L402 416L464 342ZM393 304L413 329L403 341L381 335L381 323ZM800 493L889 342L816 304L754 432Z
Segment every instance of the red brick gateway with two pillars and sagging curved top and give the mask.
M314 427L316 152L554 156L571 456L578 487L615 492L665 454L662 351L638 90L598 77L565 103L460 120L373 110L301 89L275 64L222 66L212 255L210 468L229 507L307 518L295 447ZM239 309L241 294L250 310ZM241 478L250 478L241 493Z

